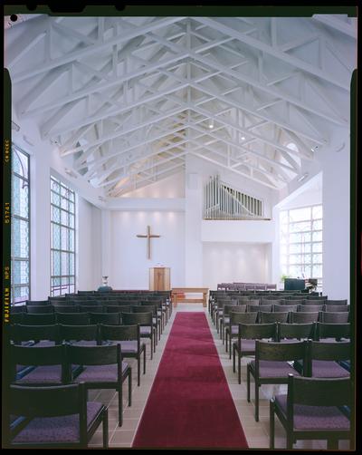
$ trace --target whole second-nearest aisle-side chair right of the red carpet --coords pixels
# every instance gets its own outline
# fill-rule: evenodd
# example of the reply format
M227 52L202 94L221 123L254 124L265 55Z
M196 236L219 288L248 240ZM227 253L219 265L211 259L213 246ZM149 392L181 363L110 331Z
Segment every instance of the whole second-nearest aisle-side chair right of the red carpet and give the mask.
M259 388L262 384L285 384L288 374L300 375L291 362L306 365L307 342L272 343L256 340L255 360L247 365L247 400L250 399L251 376L255 384L255 421L259 421ZM305 375L305 369L303 371Z

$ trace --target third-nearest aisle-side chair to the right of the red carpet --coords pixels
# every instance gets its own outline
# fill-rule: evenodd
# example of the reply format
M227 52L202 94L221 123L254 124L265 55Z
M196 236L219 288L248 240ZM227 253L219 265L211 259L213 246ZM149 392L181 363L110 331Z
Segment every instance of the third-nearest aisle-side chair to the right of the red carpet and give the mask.
M238 382L242 383L242 357L255 354L255 340L271 339L277 341L277 326L271 324L238 324L237 341L233 342L233 373L235 356L238 356Z

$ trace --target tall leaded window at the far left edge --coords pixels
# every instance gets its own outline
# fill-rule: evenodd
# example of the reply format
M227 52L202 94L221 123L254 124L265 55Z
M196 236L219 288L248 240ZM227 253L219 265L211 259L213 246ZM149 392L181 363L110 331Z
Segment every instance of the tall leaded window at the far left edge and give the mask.
M11 301L30 299L29 155L12 146Z

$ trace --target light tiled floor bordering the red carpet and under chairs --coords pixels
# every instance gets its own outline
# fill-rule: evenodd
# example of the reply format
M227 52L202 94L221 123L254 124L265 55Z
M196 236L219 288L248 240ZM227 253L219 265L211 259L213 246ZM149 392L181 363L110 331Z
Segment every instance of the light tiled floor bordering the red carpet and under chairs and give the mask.
M154 353L153 360L149 359L149 344L148 344L148 361L147 373L141 375L141 384L137 385L137 365L133 360L128 359L132 366L132 406L129 408L127 405L128 389L125 382L123 389L124 396L124 411L123 411L123 425L118 426L118 400L116 392L110 390L90 391L90 399L97 400L109 405L109 440L110 448L127 448L132 446L133 438L138 428L142 412L145 408L148 394L152 387L152 383L157 373L158 364L161 360L162 353L167 343L168 334L171 330L172 323L175 319L177 312L182 311L201 311L204 312L210 326L211 333L214 337L214 344L217 352L219 353L220 362L223 366L226 380L229 384L230 392L233 396L236 410L240 421L243 425L246 439L250 449L268 449L269 448L269 400L275 393L285 392L285 385L262 385L260 390L260 421L254 420L253 402L246 400L246 364L250 362L251 357L242 359L242 383L238 384L237 375L233 373L233 363L229 360L228 353L225 353L224 345L220 340L219 334L216 333L214 324L211 321L207 308L201 304L179 304L172 313L171 319L168 321L164 333L161 334L161 340L158 341L156 353ZM253 383L252 389L253 391ZM253 397L253 392L252 392ZM285 432L278 421L275 419L275 448L285 448ZM100 447L102 444L101 427L94 434L90 440L90 447ZM294 445L294 449L305 450L326 450L327 444L324 440L305 440L298 441ZM339 441L339 450L348 450L348 441Z

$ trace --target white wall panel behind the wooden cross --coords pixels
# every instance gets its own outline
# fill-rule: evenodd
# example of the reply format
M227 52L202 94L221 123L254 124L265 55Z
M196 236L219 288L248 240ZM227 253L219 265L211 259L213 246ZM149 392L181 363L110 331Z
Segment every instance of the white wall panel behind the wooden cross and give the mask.
M151 239L151 259L147 258L146 234ZM110 212L110 278L113 289L148 289L149 267L171 269L171 286L185 286L185 214L181 212Z

